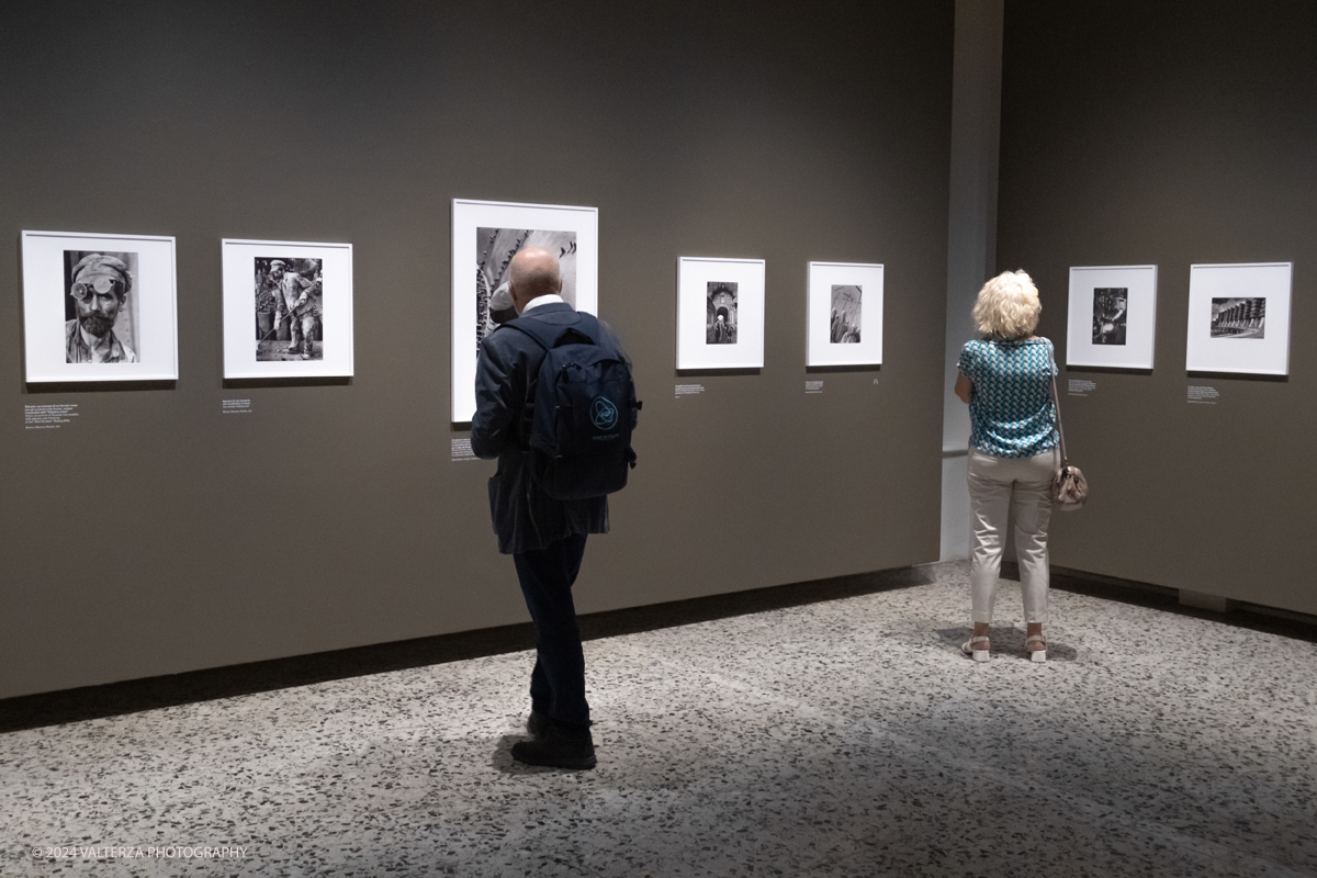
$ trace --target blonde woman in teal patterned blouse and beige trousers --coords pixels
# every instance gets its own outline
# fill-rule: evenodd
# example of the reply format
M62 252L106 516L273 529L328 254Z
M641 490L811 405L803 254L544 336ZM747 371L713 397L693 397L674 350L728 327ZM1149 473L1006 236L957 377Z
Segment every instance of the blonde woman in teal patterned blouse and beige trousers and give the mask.
M969 505L975 544L969 569L975 633L961 648L976 662L989 658L988 631L1008 517L1015 523L1015 554L1029 625L1025 649L1047 661L1047 524L1051 483L1060 467L1052 342L1034 334L1042 312L1038 287L1023 271L997 275L979 291L975 325L984 338L960 351L956 396L969 403Z

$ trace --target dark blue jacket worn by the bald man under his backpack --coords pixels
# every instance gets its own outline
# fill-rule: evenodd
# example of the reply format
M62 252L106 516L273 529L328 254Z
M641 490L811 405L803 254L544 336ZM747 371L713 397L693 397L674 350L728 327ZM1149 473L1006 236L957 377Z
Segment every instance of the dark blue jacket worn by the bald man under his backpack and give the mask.
M579 321L569 304L532 308L524 317L558 324ZM490 513L498 550L504 554L543 549L573 533L608 532L608 498L554 500L531 479L525 433L544 349L524 332L500 326L481 342L475 365L475 417L471 450L498 458L490 479Z

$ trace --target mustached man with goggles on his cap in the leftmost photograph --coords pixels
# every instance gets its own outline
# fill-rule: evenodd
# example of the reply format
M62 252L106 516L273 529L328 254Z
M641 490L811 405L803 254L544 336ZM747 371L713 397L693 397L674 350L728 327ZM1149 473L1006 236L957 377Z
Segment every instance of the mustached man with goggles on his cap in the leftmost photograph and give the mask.
M115 333L133 288L128 262L136 258L134 253L65 251L65 259L75 262L70 271L72 320L65 323L65 362L137 362L137 353ZM67 307L65 313L68 313Z

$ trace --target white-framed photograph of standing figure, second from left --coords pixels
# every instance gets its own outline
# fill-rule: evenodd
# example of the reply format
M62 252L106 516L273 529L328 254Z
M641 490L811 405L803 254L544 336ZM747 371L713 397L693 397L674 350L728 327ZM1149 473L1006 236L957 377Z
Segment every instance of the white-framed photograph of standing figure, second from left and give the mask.
M352 245L220 242L225 378L353 374Z

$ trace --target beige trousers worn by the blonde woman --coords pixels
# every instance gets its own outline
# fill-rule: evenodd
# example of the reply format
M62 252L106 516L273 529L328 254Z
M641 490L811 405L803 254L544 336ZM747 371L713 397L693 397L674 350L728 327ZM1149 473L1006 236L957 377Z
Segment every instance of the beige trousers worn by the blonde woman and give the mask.
M1008 517L1015 523L1025 621L1047 621L1047 523L1052 517L1052 477L1059 466L1056 449L1034 457L992 457L969 449L969 509L975 527L969 588L975 621L992 621Z

